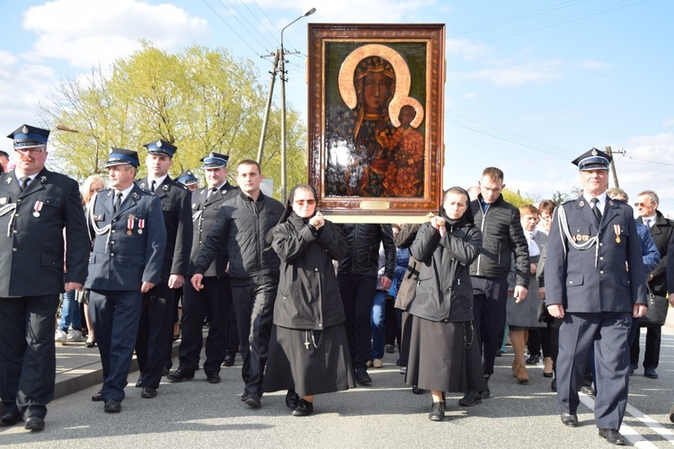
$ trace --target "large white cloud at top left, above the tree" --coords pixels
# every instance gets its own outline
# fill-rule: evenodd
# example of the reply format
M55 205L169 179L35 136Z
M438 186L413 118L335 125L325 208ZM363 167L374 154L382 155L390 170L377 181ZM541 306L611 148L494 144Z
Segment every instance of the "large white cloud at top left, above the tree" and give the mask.
M177 49L208 30L206 20L176 6L136 0L55 0L28 9L22 26L38 35L31 57L78 67L105 66L139 48L141 39Z

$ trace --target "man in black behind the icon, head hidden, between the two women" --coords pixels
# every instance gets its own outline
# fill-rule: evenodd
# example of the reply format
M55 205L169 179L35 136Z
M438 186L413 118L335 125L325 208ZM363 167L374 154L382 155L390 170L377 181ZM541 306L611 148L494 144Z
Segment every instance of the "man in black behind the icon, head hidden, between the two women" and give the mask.
M337 282L346 313L346 335L357 383L370 383L368 360L372 353L370 316L377 293L379 244L384 243L386 269L382 288L391 286L395 272L395 243L391 225L341 225L349 241L349 255L340 260Z

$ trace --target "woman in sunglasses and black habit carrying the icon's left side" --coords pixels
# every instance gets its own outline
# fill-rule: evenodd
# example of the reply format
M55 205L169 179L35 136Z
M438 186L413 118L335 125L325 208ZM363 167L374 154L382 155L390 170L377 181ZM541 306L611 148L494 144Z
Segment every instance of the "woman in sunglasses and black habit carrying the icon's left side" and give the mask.
M297 185L267 236L281 263L262 391L297 392L297 401L286 397L296 417L312 413L315 394L356 386L333 267L349 244L316 212L316 201L312 187Z

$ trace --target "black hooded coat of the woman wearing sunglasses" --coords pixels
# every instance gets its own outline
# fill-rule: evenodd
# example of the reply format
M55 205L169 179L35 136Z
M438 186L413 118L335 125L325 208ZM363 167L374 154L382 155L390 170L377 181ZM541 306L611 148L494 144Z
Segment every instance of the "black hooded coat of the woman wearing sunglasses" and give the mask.
M297 216L276 225L271 247L279 254L279 293L274 324L289 329L324 330L346 320L333 260L348 251L332 222L316 231Z

